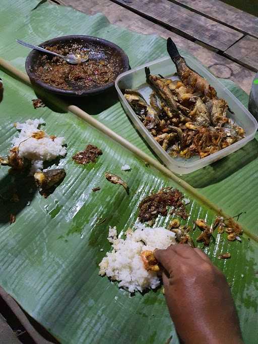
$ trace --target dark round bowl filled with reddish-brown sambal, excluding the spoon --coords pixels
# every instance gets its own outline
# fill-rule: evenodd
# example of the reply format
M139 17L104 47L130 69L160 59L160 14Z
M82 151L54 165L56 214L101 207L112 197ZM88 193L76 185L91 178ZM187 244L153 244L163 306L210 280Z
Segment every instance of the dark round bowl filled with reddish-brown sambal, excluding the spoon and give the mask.
M88 96L109 90L116 77L130 69L116 44L92 36L63 36L39 45L60 55L74 54L85 62L72 64L58 56L32 50L26 72L32 84L62 96Z

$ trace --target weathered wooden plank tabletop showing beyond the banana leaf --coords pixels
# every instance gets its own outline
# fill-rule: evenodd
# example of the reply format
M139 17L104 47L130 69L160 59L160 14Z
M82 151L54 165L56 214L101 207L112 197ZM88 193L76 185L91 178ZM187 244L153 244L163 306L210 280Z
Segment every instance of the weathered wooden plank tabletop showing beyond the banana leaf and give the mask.
M258 18L218 0L55 0L115 25L169 36L219 78L249 93L258 70Z

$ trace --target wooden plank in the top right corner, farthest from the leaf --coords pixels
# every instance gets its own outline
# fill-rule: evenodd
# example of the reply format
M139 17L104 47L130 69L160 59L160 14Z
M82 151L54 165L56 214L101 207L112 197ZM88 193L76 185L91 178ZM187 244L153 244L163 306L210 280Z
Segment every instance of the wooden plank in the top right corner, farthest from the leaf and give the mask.
M219 23L258 37L258 18L218 0L169 0ZM258 2L253 4L257 8Z

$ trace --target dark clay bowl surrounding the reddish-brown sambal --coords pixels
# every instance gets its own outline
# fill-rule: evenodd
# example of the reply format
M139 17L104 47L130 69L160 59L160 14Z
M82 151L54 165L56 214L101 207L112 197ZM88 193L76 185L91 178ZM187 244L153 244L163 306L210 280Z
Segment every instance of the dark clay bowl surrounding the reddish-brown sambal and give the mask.
M117 58L118 64L120 66L120 72L117 73L117 76L130 69L128 56L125 54L125 52L118 45L112 42L106 41L105 39L92 37L92 36L79 36L79 35L63 36L63 37L56 37L56 38L50 39L42 44L39 44L39 46L45 48L47 46L54 46L57 43L58 44L61 43L66 46L70 46L74 43L77 43L79 45L82 44L83 46L85 43L86 44L90 43L91 45L101 46L101 48L104 48L104 50L105 48L106 49L108 48L109 50L111 49L112 53ZM73 86L71 90L63 90L63 89L51 86L41 81L40 78L35 74L37 62L39 58L42 56L42 54L44 53L37 50L32 50L26 59L25 68L26 68L26 72L30 78L31 83L36 86L42 87L45 91L52 92L61 96L82 97L82 96L96 95L98 93L110 90L114 86L115 78L114 78L114 81L112 81L111 83L105 84L103 86L98 86L96 88L90 88L90 89L85 89L82 87L77 88L76 86Z

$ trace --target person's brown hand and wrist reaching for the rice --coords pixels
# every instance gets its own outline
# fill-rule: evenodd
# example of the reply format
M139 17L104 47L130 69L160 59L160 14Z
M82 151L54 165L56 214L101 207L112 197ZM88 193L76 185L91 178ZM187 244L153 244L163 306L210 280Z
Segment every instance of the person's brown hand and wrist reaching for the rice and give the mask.
M165 269L167 306L184 344L243 343L229 285L204 252L176 244L154 255Z

